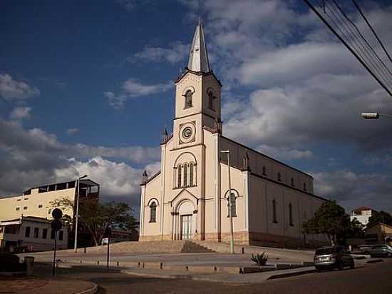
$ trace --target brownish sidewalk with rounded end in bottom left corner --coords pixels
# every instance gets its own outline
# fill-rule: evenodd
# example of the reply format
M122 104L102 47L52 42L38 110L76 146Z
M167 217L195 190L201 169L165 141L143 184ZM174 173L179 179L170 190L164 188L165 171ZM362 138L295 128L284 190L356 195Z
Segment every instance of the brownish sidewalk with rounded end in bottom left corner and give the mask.
M0 278L0 293L95 294L96 284L84 280L46 280L36 277Z

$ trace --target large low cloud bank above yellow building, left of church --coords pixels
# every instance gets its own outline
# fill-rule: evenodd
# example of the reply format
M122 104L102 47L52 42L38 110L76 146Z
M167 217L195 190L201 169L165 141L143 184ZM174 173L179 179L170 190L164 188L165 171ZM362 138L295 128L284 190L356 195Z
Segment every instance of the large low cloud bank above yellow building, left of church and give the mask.
M18 121L0 121L0 196L87 173L105 186L103 196L127 195L138 201L136 183L142 167L156 170L153 163L159 158L159 148L69 145L40 128L25 129Z

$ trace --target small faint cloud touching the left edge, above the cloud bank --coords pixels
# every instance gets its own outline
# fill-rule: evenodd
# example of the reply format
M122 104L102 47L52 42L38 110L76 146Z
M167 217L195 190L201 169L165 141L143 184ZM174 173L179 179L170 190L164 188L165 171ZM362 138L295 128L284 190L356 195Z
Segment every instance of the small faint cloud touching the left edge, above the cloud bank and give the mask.
M0 96L11 101L39 95L38 88L24 81L15 81L9 74L0 74Z

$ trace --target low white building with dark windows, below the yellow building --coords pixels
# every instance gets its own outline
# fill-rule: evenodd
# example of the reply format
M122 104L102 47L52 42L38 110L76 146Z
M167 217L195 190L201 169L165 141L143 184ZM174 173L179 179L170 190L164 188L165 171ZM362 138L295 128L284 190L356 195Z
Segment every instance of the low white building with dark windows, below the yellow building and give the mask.
M55 231L51 229L51 221L46 218L22 216L0 221L0 250L51 250L54 248L54 238ZM58 231L57 248L68 248L68 227Z

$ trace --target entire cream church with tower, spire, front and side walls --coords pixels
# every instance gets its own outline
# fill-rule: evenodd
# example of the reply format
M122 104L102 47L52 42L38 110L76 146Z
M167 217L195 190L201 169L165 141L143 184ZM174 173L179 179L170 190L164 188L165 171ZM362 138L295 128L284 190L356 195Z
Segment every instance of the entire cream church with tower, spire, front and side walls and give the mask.
M143 173L140 240L228 242L230 199L234 243L326 243L301 230L326 201L314 195L313 178L222 136L221 88L198 24L187 67L175 81L173 133L160 144L160 171ZM220 151L229 151L231 197L227 154Z

